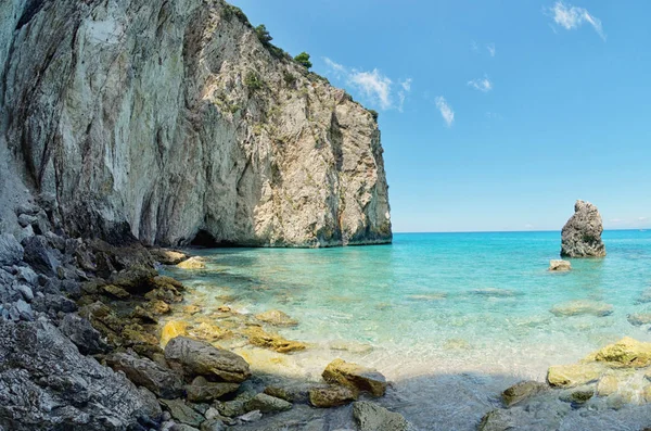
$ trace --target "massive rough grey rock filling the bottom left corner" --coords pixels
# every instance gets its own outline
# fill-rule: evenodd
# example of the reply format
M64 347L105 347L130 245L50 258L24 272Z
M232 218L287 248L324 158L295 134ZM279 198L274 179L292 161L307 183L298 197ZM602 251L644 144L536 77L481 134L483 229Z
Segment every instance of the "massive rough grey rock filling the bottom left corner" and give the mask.
M0 427L15 431L117 431L151 419L133 383L44 321L0 321Z

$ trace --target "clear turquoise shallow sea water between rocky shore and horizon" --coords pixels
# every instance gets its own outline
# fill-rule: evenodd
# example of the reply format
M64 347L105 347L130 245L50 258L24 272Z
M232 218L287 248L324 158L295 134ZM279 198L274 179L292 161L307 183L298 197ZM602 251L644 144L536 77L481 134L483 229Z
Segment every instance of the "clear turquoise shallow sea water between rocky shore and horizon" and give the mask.
M308 376L343 356L396 381L404 391L394 402L407 413L425 397L445 404L450 388L477 409L505 384L544 380L549 365L624 335L651 341L648 327L627 320L651 312L639 302L651 288L651 231L607 231L603 240L605 258L571 259L564 274L547 271L559 232L480 232L397 233L391 245L324 250L200 250L207 270L174 275L206 293L206 306L227 300L241 312L278 308L299 320L280 332L315 344L292 359ZM612 314L550 313L577 300L612 305ZM373 350L332 352L336 340ZM447 395L432 389L443 375Z

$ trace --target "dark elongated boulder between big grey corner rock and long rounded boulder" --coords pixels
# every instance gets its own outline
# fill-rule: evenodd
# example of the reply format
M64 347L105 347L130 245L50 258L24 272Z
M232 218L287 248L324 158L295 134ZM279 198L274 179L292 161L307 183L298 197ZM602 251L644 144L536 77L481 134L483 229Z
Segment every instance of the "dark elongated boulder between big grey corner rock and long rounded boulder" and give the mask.
M149 389L161 397L174 398L183 393L182 381L178 373L145 357L114 353L106 357L106 364L116 371L123 371L133 383Z

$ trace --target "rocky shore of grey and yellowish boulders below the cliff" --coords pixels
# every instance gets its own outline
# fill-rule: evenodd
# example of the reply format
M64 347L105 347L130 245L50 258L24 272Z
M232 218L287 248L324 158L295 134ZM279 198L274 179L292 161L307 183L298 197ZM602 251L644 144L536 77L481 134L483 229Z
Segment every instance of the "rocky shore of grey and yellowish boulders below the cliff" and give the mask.
M333 358L321 383L291 386L252 375L232 350L305 350L273 330L297 321L279 310L188 304L183 284L156 270L201 268L201 258L69 238L36 204L17 213L22 241L0 236L0 427L272 430L273 418L264 418L295 408L286 429L304 429L319 423L319 409L355 403L349 421L360 430L407 429L400 415L358 401L387 389L373 369Z

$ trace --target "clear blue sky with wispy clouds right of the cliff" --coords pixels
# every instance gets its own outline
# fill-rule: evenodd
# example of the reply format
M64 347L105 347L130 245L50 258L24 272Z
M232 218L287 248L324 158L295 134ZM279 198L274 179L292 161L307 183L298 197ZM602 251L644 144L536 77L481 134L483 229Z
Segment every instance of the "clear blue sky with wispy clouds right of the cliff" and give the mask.
M394 231L651 228L651 1L232 3L380 113Z

